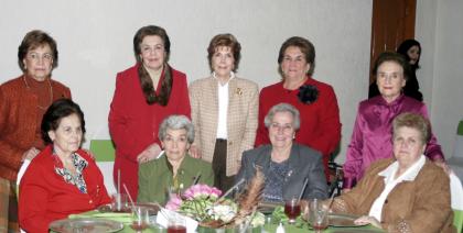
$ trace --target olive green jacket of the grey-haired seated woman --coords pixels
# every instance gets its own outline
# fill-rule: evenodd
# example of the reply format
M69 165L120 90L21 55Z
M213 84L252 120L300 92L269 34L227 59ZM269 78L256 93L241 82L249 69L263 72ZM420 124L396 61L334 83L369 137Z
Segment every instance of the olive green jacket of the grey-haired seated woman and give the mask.
M154 160L141 164L138 171L138 202L158 202L165 204L168 202L168 188L172 186L172 168L168 164L165 154ZM193 185L197 174L201 174L198 184L208 186L214 185L214 174L212 165L202 159L185 155L176 173L180 186L183 190Z

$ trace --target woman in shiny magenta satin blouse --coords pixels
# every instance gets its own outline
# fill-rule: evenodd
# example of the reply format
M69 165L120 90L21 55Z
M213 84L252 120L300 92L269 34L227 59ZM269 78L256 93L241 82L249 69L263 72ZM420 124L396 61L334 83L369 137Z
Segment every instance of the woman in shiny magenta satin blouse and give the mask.
M402 95L410 66L397 53L383 53L375 63L380 96L364 100L358 106L354 132L344 164L344 189L349 190L364 176L373 162L392 156L391 123L402 112L413 112L428 118L426 106ZM434 135L431 135L424 155L446 169L444 155Z

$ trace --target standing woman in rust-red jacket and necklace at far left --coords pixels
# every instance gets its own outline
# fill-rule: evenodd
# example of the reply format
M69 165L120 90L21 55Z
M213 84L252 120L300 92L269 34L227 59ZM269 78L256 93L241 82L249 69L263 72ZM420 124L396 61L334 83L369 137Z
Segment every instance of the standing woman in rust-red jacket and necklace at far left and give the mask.
M32 160L45 147L43 114L54 100L71 98L66 86L52 80L58 52L45 32L25 34L18 64L23 74L0 86L0 232L18 231L17 175L25 159Z

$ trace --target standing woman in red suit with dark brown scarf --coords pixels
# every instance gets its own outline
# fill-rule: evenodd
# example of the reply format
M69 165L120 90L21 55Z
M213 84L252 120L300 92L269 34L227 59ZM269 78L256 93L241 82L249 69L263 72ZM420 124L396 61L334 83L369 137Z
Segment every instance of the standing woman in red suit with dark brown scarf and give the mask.
M109 131L116 144L114 178L138 196L139 164L161 152L155 132L171 114L190 116L185 74L169 64L171 43L164 29L143 26L133 37L137 64L117 75L109 112ZM121 190L119 190L121 191Z

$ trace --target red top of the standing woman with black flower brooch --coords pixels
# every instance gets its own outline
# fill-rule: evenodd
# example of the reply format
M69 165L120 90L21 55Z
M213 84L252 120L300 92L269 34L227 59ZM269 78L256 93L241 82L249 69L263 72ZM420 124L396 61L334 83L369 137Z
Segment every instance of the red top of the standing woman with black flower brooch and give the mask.
M310 77L305 85L313 85L319 89L319 98L314 103L304 104L299 101L299 89L287 90L283 88L283 82L268 86L260 91L256 147L270 143L263 119L271 107L282 102L290 103L299 110L301 118L301 127L295 133L295 142L321 152L326 173L330 155L341 141L340 109L336 95L330 85Z

